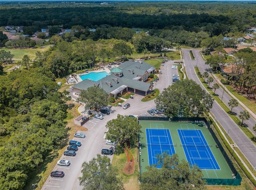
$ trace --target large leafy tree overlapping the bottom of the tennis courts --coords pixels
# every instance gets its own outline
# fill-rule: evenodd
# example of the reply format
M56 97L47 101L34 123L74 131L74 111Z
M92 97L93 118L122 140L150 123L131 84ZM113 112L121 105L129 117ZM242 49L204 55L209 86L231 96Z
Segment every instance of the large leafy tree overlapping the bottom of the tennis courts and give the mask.
M177 154L170 156L166 152L158 155L158 164L147 166L140 178L140 190L173 190L179 189L206 189L206 182L202 180L203 174L198 166L191 168L190 164L178 159Z

